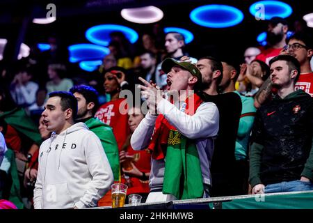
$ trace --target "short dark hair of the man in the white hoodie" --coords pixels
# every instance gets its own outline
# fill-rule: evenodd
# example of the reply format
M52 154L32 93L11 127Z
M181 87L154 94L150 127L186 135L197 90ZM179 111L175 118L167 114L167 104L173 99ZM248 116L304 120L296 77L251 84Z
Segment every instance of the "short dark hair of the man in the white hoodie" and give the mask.
M60 97L61 98L61 108L62 111L66 109L72 109L73 119L77 116L77 99L75 96L68 91L53 91L49 93L49 98Z

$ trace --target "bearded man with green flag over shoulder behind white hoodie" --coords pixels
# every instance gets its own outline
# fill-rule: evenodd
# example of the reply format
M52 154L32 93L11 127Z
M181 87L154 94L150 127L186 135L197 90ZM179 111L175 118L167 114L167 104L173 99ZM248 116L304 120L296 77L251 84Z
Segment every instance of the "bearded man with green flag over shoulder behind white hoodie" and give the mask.
M70 92L75 96L78 103L78 112L75 121L85 123L89 130L99 137L113 171L114 180L118 181L120 161L118 158L118 144L116 143L112 128L93 117L99 107L97 91L93 87L81 85L72 87Z

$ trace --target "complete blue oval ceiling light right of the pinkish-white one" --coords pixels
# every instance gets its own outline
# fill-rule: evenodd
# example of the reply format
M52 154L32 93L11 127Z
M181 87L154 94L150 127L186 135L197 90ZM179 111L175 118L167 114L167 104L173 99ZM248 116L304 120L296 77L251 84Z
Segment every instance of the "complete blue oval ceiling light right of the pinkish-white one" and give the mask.
M239 24L243 20L243 13L232 6L207 5L193 9L189 17L200 26L225 28Z

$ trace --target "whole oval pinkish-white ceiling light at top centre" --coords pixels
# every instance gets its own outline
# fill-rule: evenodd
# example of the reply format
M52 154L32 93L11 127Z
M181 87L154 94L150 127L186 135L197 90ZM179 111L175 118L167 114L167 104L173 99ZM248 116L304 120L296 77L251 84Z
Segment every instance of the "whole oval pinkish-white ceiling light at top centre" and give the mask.
M120 15L129 22L141 24L158 22L163 18L162 10L155 6L125 8L121 10Z

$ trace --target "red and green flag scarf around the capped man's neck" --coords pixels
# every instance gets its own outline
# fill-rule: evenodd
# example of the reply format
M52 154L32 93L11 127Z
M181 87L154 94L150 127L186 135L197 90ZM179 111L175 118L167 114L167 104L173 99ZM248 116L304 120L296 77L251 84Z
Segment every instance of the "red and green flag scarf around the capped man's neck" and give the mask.
M188 115L195 114L202 100L196 94L186 99ZM195 199L203 196L202 172L195 142L184 137L163 115L159 115L154 135L148 148L152 158L165 158L163 194L172 194L177 199Z

